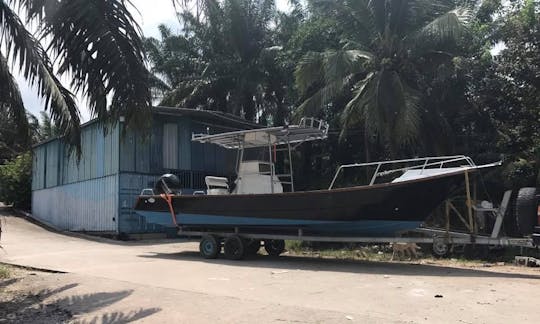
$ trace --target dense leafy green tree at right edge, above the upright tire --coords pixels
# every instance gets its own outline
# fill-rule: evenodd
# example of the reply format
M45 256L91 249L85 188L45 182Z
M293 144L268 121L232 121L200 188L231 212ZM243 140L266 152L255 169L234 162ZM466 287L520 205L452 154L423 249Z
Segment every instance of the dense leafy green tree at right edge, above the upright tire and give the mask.
M486 146L507 155L505 185L540 184L540 4L518 1L497 16L486 38L505 48L495 60L470 66L470 100L496 129Z

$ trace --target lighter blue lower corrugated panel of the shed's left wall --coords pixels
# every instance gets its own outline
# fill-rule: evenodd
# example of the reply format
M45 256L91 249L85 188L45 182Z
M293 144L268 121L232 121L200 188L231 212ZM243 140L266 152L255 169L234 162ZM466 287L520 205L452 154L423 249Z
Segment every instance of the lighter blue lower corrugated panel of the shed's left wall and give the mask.
M118 175L32 192L32 216L62 230L117 232Z

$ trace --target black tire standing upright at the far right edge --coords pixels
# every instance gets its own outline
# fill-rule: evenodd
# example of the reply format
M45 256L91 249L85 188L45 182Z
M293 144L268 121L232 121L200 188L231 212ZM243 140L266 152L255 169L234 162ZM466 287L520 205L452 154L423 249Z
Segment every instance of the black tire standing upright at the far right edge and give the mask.
M514 217L518 233L530 235L534 231L537 222L538 198L536 188L521 188L518 191L514 206Z

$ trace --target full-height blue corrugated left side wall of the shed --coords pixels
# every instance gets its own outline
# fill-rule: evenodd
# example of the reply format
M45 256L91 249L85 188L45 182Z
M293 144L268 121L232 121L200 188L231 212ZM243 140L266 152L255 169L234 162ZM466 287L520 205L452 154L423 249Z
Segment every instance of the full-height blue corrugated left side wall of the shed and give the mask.
M61 229L117 232L118 127L81 131L81 159L60 139L34 148L32 214Z

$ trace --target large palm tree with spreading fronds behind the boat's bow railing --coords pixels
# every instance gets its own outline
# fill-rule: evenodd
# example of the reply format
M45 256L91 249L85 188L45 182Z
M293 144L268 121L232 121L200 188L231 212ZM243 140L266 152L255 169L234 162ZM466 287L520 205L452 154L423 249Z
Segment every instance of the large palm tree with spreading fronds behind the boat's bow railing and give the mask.
M429 113L422 107L423 76L438 62L451 61L448 50L464 35L471 7L450 0L310 4L315 14L339 22L343 46L307 53L298 63L295 80L304 100L297 113L337 109L342 135L362 127L366 150L374 138L394 155L415 143ZM333 101L343 98L343 108L332 108Z

